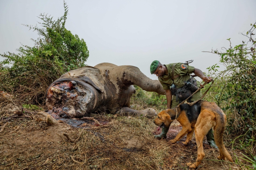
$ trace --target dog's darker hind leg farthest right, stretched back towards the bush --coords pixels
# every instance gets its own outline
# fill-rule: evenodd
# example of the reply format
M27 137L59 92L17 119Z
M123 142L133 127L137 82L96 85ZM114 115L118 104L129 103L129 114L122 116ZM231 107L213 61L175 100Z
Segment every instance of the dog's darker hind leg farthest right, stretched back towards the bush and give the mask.
M218 157L218 159L225 160L225 157L226 157L230 162L233 162L232 157L228 153L223 143L223 133L224 133L227 117L218 106L215 107L215 109L216 109L215 110L216 126L214 130L214 140L220 152L220 156Z

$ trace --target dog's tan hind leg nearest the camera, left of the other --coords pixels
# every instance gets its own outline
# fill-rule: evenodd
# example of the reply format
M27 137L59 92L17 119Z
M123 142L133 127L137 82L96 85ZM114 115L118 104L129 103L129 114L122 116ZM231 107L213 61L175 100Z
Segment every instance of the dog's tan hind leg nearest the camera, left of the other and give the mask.
M195 125L197 159L196 162L193 164L187 163L187 166L189 166L189 168L197 168L198 165L201 163L201 160L205 157L203 140L207 132L213 127L212 119L214 119L214 117L207 110L201 111L200 115L197 118L197 122Z

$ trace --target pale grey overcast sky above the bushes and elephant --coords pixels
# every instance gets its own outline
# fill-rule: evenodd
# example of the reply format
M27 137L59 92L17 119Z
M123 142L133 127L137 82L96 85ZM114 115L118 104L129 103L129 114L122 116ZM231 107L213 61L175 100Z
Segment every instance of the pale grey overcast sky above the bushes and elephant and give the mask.
M218 55L202 53L220 50L246 40L256 20L255 0L230 1L71 1L66 28L83 38L89 50L86 64L102 62L133 65L152 79L150 64L185 62L206 71L217 64ZM64 13L62 0L0 0L0 54L33 46L36 32L22 24L36 25L40 13L55 19ZM0 61L3 58L0 58Z

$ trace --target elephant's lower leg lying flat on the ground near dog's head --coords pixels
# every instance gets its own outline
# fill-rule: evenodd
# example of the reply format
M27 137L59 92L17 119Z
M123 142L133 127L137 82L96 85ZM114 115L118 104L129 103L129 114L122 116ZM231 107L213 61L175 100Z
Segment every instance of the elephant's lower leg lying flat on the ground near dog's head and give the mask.
M147 108L145 110L133 110L129 107L123 107L121 110L117 112L119 115L131 115L131 116L146 116L147 118L151 118L156 116L156 111L153 108Z

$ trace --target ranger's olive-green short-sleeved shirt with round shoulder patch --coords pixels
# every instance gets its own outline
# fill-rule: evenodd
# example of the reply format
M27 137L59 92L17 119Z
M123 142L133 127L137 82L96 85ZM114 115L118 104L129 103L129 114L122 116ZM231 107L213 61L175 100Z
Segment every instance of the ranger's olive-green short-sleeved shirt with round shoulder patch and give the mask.
M195 67L185 65L183 63L176 63L174 67L174 82L172 80L172 67L173 64L165 65L168 70L168 75L164 75L161 78L158 78L160 83L163 86L164 90L170 89L170 86L174 83L177 88L182 88L184 86L184 81L187 81L190 78L190 74L193 73Z

